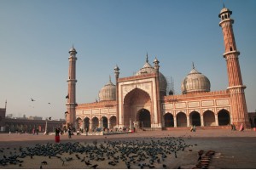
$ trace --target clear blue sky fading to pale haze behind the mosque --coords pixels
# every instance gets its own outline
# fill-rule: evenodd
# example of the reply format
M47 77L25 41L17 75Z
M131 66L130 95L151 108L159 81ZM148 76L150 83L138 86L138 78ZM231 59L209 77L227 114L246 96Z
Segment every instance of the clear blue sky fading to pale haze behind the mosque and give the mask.
M256 1L224 0L233 11L248 111L256 101ZM211 91L228 87L224 40L218 26L222 0L1 0L0 107L7 114L64 118L68 50L77 49L77 103L130 77L154 57L172 77L176 94L195 63ZM35 99L32 102L30 99ZM50 105L48 104L50 102Z

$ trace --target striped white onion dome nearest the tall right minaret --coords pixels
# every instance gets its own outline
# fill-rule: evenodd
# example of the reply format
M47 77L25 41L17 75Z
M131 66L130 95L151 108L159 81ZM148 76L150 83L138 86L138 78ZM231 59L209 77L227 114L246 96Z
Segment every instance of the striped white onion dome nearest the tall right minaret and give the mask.
M196 71L193 65L192 71L183 79L181 88L183 94L210 92L211 83L206 76Z

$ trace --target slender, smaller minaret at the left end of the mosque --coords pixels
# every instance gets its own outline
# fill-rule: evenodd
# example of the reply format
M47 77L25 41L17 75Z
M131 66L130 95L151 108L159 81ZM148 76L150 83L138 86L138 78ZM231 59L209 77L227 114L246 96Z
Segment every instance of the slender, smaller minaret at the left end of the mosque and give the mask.
M67 94L67 127L74 127L76 121L76 54L77 51L75 48L71 48L68 52L70 54L69 66L68 66L68 79L67 79L67 86L68 86L68 94Z

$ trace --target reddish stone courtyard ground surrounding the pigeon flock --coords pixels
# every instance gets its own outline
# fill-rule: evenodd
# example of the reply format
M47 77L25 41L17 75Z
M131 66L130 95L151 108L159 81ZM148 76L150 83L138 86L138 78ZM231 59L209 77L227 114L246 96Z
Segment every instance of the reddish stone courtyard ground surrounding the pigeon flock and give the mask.
M80 142L92 144L97 141L99 144L104 141L149 141L150 139L163 139L165 137L181 137L189 148L183 152L177 152L177 159L173 156L166 161L167 168L193 168L197 163L199 150L214 150L215 155L208 168L256 168L256 132L247 130L245 132L230 131L228 129L199 129L195 133L188 130L173 130L173 131L144 131L139 133L114 134L104 136L84 136L73 135L72 139L68 139L67 135L61 136L61 144L67 142ZM0 159L3 156L9 156L9 152L14 152L14 148L32 147L35 144L55 143L54 135L32 135L32 134L17 134L17 133L2 133L0 134ZM1 166L0 168L39 168L42 160L47 160L48 165L43 168L90 168L83 165L79 167L78 163L68 164L66 167L61 166L61 162L54 159L49 160L48 157L36 157L32 160L30 157L24 159L22 167L18 165ZM73 161L75 162L75 161ZM126 168L124 164L112 167L108 164L100 164L96 168ZM140 168L140 167L131 167ZM155 168L163 168L160 165L155 165Z

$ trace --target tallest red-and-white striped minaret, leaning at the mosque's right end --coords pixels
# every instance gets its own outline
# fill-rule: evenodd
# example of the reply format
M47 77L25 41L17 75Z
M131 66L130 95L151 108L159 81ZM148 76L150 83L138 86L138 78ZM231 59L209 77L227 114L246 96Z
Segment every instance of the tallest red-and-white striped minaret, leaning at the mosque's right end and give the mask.
M242 84L241 70L239 65L238 56L240 52L236 48L236 41L232 24L234 20L230 18L232 11L228 8L223 8L218 14L220 18L219 26L222 27L224 35L224 58L226 59L229 87L230 92L230 117L231 123L234 123L236 127L239 127L241 123L245 127L249 127L248 115L247 115L247 103L245 99L244 89L246 86Z

